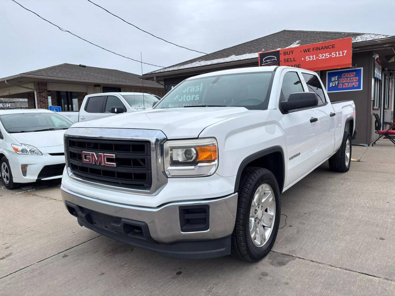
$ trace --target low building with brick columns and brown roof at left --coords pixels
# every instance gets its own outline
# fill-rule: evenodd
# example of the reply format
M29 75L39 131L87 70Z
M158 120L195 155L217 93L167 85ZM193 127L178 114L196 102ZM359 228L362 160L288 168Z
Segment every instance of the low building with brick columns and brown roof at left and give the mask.
M86 95L102 92L146 92L162 97L164 86L129 72L66 63L0 78L0 102L19 99L30 109L52 105L62 111L79 111Z

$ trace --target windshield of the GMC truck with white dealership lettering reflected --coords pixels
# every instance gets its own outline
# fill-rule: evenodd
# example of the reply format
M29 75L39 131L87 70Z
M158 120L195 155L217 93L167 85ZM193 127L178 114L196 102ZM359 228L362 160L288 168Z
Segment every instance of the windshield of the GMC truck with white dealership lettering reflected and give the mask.
M267 109L273 71L190 79L174 88L154 109L234 106Z

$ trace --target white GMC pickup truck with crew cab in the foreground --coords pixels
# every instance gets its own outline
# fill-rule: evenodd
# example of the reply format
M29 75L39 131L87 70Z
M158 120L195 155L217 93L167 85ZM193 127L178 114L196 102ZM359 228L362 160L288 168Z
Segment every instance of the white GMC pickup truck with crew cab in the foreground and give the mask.
M272 248L280 195L329 159L350 168L353 101L315 72L250 67L191 77L151 110L65 134L62 198L79 225L171 258Z

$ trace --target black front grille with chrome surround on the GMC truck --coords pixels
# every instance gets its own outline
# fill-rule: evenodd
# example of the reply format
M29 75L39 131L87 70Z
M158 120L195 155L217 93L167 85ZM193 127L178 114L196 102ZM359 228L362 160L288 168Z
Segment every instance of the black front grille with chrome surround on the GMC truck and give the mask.
M64 139L68 174L78 182L148 195L167 183L162 131L76 127L68 129ZM83 152L112 158L106 165L87 163Z

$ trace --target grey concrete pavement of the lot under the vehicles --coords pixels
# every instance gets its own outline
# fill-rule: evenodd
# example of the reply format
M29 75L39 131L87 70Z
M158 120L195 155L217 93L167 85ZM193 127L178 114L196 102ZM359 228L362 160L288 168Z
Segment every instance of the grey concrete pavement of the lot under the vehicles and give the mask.
M166 259L79 227L56 184L1 189L0 294L394 295L395 148L352 149L349 172L324 164L282 195L256 263Z

